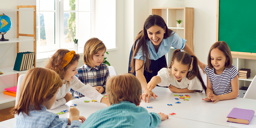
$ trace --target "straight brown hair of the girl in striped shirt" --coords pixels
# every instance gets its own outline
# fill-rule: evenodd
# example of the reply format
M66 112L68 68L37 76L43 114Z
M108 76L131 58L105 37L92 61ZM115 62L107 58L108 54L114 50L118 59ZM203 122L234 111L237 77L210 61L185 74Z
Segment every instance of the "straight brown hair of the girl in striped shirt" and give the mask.
M213 69L213 66L212 66L212 63L211 63L211 51L214 48L218 48L220 51L223 52L223 54L225 55L226 59L228 59L227 63L225 64L225 68L230 68L232 63L233 63L233 59L232 59L232 54L231 54L230 48L228 47L228 44L226 42L218 41L218 42L215 42L211 46L209 54L208 54L207 62L208 62L209 69Z

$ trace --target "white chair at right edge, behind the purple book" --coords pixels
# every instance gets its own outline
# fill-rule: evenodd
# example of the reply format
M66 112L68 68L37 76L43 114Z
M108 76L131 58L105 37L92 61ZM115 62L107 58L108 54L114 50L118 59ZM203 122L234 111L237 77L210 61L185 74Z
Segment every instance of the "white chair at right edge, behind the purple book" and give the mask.
M256 100L255 92L256 92L256 76L251 81L251 84L249 85L249 88L245 92L243 98Z

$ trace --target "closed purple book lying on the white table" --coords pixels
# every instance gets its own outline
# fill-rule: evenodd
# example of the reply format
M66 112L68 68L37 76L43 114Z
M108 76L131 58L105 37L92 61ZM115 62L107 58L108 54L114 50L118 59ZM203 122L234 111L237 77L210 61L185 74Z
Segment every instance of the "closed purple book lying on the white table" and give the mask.
M231 112L228 114L227 118L244 119L244 120L248 120L250 123L253 115L254 115L253 110L233 108ZM230 121L227 121L227 122L230 122ZM233 123L236 123L236 122L233 122Z

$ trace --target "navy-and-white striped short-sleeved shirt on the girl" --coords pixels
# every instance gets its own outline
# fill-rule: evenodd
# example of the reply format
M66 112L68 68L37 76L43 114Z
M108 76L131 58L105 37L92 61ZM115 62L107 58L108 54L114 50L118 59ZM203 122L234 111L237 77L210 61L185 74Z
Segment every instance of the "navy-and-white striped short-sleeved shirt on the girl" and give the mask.
M209 69L208 65L204 69L205 74L209 77L212 84L213 94L222 95L232 92L231 80L238 75L236 66L232 65L230 68L225 68L224 71L217 75L214 69ZM238 94L239 97L239 94Z

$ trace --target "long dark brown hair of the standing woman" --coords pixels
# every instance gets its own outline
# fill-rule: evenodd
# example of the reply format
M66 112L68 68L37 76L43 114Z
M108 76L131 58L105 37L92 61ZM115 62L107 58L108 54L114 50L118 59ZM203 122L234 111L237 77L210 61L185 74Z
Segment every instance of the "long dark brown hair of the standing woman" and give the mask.
M149 15L148 18L144 22L143 30L141 30L137 34L137 36L135 38L135 42L133 44L133 48L132 48L133 49L133 56L132 56L132 61L131 61L132 70L130 71L131 73L135 72L135 59L133 59L133 58L136 55L136 53L139 51L140 48L142 48L143 60L146 60L145 64L142 65L142 66L144 66L144 70L146 70L150 73L152 72L149 69L149 65L150 65L151 62L150 62L150 59L149 59L150 58L150 53L149 53L149 49L147 48L146 40L150 40L148 38L148 34L147 34L148 28L150 28L154 25L157 25L157 26L161 27L162 29L165 29L164 39L172 36L175 33L173 30L168 29L164 19L161 16ZM140 69L142 68L142 66L140 67Z

